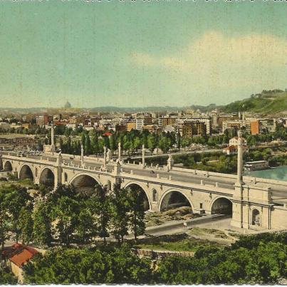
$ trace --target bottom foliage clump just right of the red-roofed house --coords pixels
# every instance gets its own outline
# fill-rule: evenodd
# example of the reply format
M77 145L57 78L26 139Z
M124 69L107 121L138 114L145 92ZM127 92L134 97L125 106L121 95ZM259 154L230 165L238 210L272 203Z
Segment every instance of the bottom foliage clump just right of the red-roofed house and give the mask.
M151 283L149 259L140 259L127 246L97 249L58 249L37 256L24 268L25 283Z

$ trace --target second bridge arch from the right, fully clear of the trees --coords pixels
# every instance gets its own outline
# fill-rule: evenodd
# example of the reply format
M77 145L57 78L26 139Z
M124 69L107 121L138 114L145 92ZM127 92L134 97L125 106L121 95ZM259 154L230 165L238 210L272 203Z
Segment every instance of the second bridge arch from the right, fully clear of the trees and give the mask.
M176 207L192 207L194 211L194 205L187 194L178 189L168 189L160 198L159 212Z

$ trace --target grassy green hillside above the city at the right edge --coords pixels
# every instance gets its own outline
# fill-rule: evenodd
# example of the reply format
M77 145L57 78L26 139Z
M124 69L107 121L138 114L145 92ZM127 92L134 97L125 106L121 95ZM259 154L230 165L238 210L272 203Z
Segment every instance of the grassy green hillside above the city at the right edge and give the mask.
M273 114L285 112L287 111L287 91L263 90L262 93L251 95L250 98L225 105L221 110L226 113L249 111Z

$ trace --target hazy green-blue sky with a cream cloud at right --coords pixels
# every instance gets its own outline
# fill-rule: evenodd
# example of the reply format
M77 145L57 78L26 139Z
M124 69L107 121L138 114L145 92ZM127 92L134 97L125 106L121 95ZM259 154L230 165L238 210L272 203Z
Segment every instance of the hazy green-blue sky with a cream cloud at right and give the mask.
M0 1L0 106L222 105L287 88L285 1Z

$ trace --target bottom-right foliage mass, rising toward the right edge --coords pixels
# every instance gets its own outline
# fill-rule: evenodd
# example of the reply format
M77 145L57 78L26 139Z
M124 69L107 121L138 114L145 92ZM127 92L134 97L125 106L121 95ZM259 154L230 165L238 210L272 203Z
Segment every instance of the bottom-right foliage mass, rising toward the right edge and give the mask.
M166 284L278 283L287 277L286 262L286 233L242 236L224 250L204 248L197 251L195 258L163 260L155 281Z

